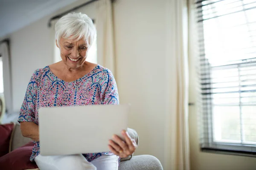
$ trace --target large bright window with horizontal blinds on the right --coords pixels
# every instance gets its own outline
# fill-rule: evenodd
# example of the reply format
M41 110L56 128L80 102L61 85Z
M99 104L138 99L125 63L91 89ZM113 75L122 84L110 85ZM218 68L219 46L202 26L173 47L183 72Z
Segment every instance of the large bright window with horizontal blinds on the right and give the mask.
M256 0L197 0L201 148L256 155Z

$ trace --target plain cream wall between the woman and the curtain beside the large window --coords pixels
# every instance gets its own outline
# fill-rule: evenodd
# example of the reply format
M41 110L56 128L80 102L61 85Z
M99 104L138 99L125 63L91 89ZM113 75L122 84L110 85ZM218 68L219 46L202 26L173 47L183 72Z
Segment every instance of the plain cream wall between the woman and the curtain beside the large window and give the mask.
M129 126L137 130L136 154L164 163L166 114L166 0L117 0L114 3L116 79L120 102L131 103Z

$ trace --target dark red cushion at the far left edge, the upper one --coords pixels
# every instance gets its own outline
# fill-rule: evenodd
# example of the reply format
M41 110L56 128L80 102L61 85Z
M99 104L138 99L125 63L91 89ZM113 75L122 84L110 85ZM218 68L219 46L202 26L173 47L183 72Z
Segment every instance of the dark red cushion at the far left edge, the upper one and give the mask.
M14 123L0 125L0 157L9 153L10 139Z

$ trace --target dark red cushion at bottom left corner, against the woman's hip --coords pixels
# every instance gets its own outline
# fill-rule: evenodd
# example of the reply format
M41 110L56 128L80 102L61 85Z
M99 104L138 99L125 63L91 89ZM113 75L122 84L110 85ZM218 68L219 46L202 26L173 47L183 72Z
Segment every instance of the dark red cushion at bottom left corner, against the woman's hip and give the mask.
M1 170L28 170L38 168L35 162L29 161L33 147L34 143L29 142L0 157Z

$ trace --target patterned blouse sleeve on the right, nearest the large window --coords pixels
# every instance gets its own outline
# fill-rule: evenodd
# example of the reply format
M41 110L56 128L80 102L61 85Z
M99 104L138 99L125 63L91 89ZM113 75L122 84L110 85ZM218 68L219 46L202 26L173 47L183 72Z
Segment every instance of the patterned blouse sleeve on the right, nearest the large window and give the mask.
M105 88L103 105L119 105L119 96L116 86L116 80L111 73L108 72L108 83Z

